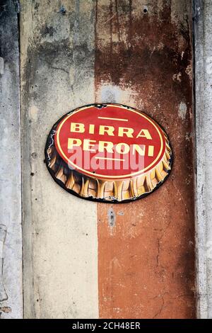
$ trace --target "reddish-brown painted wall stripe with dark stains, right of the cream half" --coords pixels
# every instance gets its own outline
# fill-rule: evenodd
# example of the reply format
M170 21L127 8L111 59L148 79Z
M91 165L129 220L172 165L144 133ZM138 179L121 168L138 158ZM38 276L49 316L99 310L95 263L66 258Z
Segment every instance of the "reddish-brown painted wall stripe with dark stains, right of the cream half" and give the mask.
M152 1L144 13L140 1L96 1L96 102L146 111L163 125L175 154L172 175L155 193L98 203L102 318L195 313L192 9L182 1L176 16L176 2L159 9Z

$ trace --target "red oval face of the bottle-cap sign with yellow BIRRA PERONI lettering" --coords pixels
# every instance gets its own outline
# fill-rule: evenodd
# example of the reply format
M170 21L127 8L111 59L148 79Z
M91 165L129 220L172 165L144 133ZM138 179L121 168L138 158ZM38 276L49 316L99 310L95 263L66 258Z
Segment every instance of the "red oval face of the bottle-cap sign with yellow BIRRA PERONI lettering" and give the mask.
M165 134L148 115L124 106L86 106L57 126L57 152L70 169L101 179L129 179L163 158Z

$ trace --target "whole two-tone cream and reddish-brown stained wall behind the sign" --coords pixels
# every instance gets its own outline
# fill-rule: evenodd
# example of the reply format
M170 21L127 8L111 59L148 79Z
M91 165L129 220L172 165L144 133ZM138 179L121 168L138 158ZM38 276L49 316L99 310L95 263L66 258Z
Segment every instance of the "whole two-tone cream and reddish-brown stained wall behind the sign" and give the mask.
M25 317L193 318L192 4L20 1ZM172 174L134 203L71 196L44 160L52 125L88 103L153 116Z

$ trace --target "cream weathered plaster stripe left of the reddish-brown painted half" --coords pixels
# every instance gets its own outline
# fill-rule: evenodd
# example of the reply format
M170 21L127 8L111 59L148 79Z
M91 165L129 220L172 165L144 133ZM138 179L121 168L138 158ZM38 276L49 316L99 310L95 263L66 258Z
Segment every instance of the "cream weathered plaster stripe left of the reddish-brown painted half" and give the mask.
M24 315L98 317L96 203L45 165L52 125L94 100L94 2L20 2Z

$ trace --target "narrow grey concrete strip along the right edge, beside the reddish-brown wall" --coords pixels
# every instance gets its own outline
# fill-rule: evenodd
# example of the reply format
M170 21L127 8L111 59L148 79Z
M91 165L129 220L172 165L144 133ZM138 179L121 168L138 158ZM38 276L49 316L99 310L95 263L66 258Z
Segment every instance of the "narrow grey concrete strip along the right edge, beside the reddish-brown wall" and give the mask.
M212 318L212 3L194 1L197 315Z

